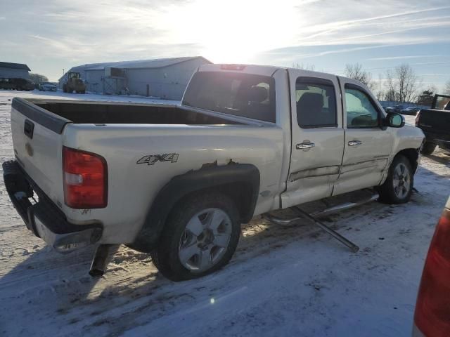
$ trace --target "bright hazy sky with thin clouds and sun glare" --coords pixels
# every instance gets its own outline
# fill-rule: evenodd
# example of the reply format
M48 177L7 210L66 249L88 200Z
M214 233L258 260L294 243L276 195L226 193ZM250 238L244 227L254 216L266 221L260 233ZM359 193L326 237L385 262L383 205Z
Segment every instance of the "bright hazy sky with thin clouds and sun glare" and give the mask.
M378 74L407 62L450 80L449 0L0 0L0 60L56 80L92 62L203 55L212 62Z

